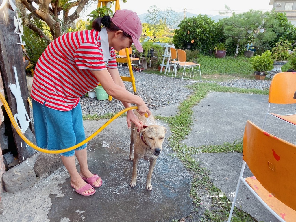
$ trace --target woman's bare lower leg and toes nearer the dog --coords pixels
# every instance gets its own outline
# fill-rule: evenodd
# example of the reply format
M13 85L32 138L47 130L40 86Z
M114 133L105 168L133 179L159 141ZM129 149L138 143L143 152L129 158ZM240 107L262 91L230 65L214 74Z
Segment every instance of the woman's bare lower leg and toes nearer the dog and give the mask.
M91 178L92 176L94 176L94 174L91 173L91 171L89 171L89 168L87 166L86 148L81 150L75 150L75 155L80 165L80 173L79 173L80 176L84 178ZM99 186L100 184L101 184L101 178L94 181L94 186Z

